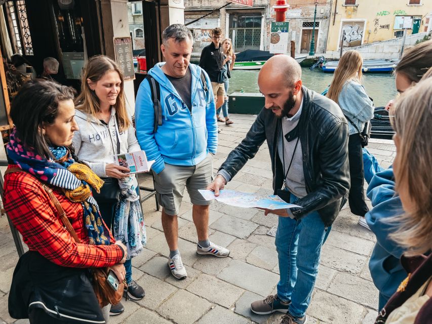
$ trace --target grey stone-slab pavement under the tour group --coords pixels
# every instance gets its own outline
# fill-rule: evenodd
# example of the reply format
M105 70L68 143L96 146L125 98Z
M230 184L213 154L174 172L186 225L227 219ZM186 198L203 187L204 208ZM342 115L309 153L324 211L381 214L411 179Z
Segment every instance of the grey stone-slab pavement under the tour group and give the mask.
M233 114L231 119L231 126L219 123L222 132L213 160L215 170L244 138L255 116ZM391 140L372 139L368 149L383 167L388 167L396 154ZM271 178L264 143L227 188L272 194ZM152 186L148 176L141 183ZM145 201L143 207L148 243L132 264L133 277L145 288L146 296L137 302L123 301L125 312L111 317L110 323L279 323L281 313L259 316L250 311L252 301L276 293L278 258L274 237L266 233L277 225L277 216L215 201L210 207L210 239L228 247L231 254L222 259L199 256L192 205L185 192L179 215L179 250L188 277L180 281L167 266L169 250L154 199ZM374 243L374 234L358 225L358 217L349 208L343 209L322 250L318 279L307 310L308 323L373 323L378 291L371 281L368 260ZM8 314L8 292L18 256L6 217L0 219L0 258L0 324L27 323L15 321Z

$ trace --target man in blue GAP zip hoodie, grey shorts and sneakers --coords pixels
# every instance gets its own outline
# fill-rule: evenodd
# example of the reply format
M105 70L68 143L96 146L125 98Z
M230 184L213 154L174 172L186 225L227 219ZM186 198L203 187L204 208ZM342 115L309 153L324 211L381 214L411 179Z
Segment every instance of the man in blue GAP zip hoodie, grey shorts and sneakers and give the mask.
M215 103L205 71L189 64L193 38L186 26L168 26L162 34L165 63L148 71L160 85L162 125L154 131L150 85L144 80L136 97L136 131L141 148L152 166L154 188L163 207L162 226L170 248L168 266L183 279L186 269L178 251L178 220L184 187L193 205L192 218L198 234L198 254L227 257L229 251L209 240L209 204L198 192L212 182L212 154L217 148ZM204 73L207 83L202 83Z

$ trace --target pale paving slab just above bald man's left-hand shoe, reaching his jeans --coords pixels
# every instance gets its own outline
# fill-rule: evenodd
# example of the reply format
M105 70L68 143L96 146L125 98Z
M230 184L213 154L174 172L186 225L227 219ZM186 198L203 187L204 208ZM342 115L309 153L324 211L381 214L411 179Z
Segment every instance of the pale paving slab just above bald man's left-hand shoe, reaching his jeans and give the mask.
M279 275L239 260L232 260L217 277L256 294L267 296L279 281Z

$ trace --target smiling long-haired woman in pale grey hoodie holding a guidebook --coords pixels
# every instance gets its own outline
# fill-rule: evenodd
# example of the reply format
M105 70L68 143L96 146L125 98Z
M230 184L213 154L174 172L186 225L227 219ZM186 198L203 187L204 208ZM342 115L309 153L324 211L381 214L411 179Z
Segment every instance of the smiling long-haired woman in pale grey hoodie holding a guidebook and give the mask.
M137 187L135 176L125 174L129 169L114 163L114 154L140 150L126 110L123 80L123 73L113 60L103 55L94 56L83 71L81 94L75 101L75 120L80 127L73 136L75 155L104 181L100 193L93 192L93 196L108 228L114 227L114 215L119 212L117 203L122 183L131 183L129 189L133 191ZM136 200L136 191L134 196ZM142 221L141 211L137 213ZM113 234L115 236L115 231ZM132 280L131 259L125 262L125 268L128 296L135 300L143 298L144 290ZM117 315L123 311L120 303L111 307L110 314Z

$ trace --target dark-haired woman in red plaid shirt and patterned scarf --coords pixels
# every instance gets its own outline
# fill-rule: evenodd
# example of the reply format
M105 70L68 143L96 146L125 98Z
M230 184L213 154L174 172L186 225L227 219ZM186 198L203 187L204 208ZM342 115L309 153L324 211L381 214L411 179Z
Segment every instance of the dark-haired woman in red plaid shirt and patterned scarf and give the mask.
M8 169L19 170L5 175L4 203L29 251L14 271L9 313L30 323L105 323L89 269L108 267L125 279L126 247L114 241L92 196L103 181L69 150L78 130L74 94L48 80L32 80L11 108L15 128ZM81 243L64 228L43 184L53 190Z

